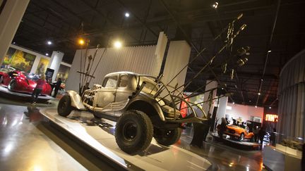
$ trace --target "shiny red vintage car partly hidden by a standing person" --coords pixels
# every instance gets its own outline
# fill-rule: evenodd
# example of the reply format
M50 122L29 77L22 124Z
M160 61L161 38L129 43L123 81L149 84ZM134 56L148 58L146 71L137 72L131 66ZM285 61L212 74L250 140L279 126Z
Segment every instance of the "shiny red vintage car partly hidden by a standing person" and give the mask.
M39 79L38 75L30 75L18 70L0 72L0 77L0 84L2 83L2 86L8 87L8 90L28 94L32 94L37 84L36 81ZM41 94L49 95L51 91L51 86L46 82Z

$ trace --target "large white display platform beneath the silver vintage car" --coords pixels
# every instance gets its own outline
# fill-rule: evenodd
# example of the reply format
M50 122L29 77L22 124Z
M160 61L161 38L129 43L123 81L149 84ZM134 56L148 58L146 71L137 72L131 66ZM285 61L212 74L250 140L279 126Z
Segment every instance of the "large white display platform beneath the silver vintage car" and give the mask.
M44 108L40 113L94 148L101 156L128 170L207 170L211 163L177 146L160 146L155 139L148 150L135 156L121 151L114 138L115 122L95 119L91 113L73 111L68 118L58 115L56 108Z

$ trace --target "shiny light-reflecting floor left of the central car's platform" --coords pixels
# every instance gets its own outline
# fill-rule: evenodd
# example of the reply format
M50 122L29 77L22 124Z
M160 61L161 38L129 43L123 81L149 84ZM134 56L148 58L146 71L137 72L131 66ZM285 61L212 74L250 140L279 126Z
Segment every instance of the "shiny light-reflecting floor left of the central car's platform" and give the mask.
M42 115L26 105L0 103L0 170L85 170L37 129Z

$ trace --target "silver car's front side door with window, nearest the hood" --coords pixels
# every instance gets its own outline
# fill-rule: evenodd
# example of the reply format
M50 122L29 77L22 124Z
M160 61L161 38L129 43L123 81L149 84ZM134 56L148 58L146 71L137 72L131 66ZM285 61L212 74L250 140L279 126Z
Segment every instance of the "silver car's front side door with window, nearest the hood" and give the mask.
M102 88L95 92L95 103L93 105L95 108L104 108L114 103L117 81L118 75L110 75L104 78Z

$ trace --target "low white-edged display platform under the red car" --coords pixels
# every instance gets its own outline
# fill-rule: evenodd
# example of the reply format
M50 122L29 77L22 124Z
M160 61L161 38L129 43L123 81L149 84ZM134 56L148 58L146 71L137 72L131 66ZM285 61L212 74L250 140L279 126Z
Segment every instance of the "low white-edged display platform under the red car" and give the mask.
M23 94L9 91L6 87L0 86L0 95L8 99L20 101L32 101L32 94ZM37 102L45 102L54 99L53 96L38 96Z

